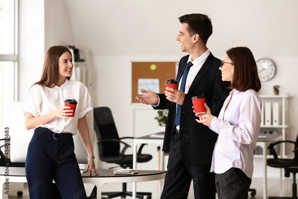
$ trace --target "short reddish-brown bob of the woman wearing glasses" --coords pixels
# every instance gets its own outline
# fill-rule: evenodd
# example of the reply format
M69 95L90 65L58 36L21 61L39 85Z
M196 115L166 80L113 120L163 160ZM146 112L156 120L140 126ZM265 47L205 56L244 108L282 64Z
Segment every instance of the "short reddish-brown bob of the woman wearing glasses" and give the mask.
M227 50L226 55L234 63L230 88L241 92L252 88L258 92L261 89L261 81L252 51L248 47L234 47Z

